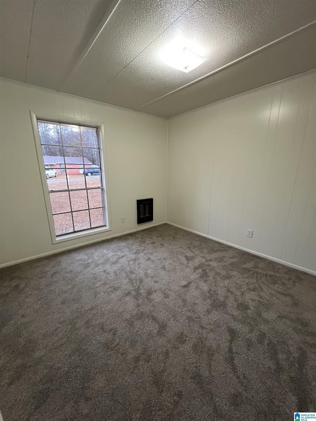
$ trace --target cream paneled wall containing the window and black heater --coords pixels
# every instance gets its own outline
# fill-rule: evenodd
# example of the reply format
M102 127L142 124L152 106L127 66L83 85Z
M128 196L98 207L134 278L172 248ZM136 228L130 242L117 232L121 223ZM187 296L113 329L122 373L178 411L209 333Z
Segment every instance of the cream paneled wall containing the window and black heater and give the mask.
M0 101L0 264L166 220L166 120L9 81L0 82ZM52 244L30 110L104 122L112 231ZM146 197L154 221L137 226L136 199Z

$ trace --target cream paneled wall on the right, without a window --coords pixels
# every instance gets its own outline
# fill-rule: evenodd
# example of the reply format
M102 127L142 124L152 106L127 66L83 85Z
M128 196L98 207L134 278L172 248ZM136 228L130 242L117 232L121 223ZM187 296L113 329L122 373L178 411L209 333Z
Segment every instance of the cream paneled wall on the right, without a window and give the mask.
M169 120L167 221L316 270L315 78Z

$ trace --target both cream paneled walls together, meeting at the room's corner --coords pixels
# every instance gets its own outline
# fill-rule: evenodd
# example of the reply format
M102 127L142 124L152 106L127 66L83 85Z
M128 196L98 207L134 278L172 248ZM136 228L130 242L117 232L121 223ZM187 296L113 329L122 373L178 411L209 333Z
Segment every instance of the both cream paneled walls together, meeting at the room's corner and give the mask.
M315 271L315 78L169 120L167 218L166 120L1 81L0 264L136 230L136 198L154 197L153 224ZM112 231L52 244L30 110L104 122Z

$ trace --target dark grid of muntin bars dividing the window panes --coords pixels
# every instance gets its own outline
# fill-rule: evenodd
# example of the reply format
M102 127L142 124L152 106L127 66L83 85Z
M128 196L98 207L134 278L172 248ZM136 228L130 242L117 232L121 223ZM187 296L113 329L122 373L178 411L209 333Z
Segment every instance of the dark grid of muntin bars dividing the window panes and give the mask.
M106 220L106 213L105 213L105 201L104 201L104 190L103 190L103 180L102 180L102 166L101 166L101 150L100 150L100 137L99 137L99 130L96 128L96 127L93 127L93 126L83 126L83 125L78 125L78 124L67 124L67 123L60 123L60 122L53 122L53 121L44 121L44 120L40 120L40 119L38 119L38 125L39 125L39 123L46 123L46 124L55 124L57 127L58 127L58 129L59 129L59 136L60 136L60 140L61 140L61 143L60 144L48 144L48 143L42 143L42 140L41 140L41 138L40 138L40 145L41 145L41 147L42 146L56 146L56 147L61 147L61 150L62 150L62 153L63 153L63 155L62 155L62 157L63 157L63 159L64 159L64 163L65 164L63 164L63 165L65 165L65 167L63 168L64 170L65 170L65 173L66 173L66 182L67 182L67 187L68 187L68 189L62 189L62 190L49 190L49 188L48 188L48 183L46 183L46 186L47 186L47 190L48 190L48 194L49 194L49 202L50 202L50 207L51 207L51 201L50 201L50 194L51 193L59 193L59 192L68 192L68 196L69 196L69 202L70 202L70 209L71 209L71 211L70 212L61 212L61 213L53 213L53 211L52 211L52 207L51 207L51 212L52 212L52 216L54 217L54 216L56 216L56 215L67 215L68 213L70 213L71 214L71 217L72 217L72 223L73 223L73 231L71 231L72 233L73 232L82 232L82 231L87 231L87 230L91 230L91 229L95 229L95 228L101 228L101 227L106 227L107 225L106 225L106 222L107 222L107 220ZM74 126L77 126L77 127L79 127L79 135L80 135L80 145L81 146L68 146L68 145L64 145L64 143L63 143L63 135L62 135L62 130L61 130L61 126L62 125L65 125L65 126L72 126L72 127L74 127ZM96 138L97 138L97 142L98 142L98 148L94 148L94 147L83 147L83 145L82 145L82 136L81 136L81 127L84 127L84 128L89 128L89 129L95 129L96 130ZM80 148L81 149L81 156L82 156L82 164L83 164L83 178L84 178L84 185L85 185L85 188L82 188L82 187L80 187L80 188L78 188L78 189L71 189L70 187L69 187L69 183L68 183L68 174L67 174L67 169L69 170L69 169L77 169L78 167L72 167L72 168L67 168L67 165L72 165L72 164L67 164L66 163L66 159L65 159L65 152L64 152L64 148L74 148L74 149L78 149L78 148ZM99 168L99 179L100 179L100 186L97 186L97 187L87 187L87 183L86 183L86 175L85 175L85 173L84 173L84 171L85 171L85 162L84 162L84 155L83 155L83 149L94 149L94 150L97 150L98 151L98 158L99 158L99 166L98 166L98 168ZM41 153L42 153L42 155L43 155L43 149L41 148ZM79 157L79 156L78 156ZM60 165L60 164L59 164ZM79 164L78 164L79 165ZM87 167L87 169L88 169L89 167ZM45 164L44 164L44 169L45 169ZM59 168L60 170L62 169L62 168ZM65 174L65 173L62 173L62 174ZM97 227L92 227L92 225L91 225L91 214L90 214L90 204L89 204L89 195L88 195L88 190L101 190L101 200L102 200L102 205L103 206L101 206L101 207L96 207L96 208L91 208L91 209L102 209L103 210L103 222L104 222L104 224L103 225L99 225L99 226L97 226ZM80 209L80 210L77 210L77 211L73 211L73 209L72 209L72 203L71 203L71 197L70 197L70 191L86 191L86 194L87 194L87 202L88 202L88 209ZM86 210L88 210L88 212L89 212L89 224L90 224L90 228L85 228L85 229L83 229L83 230L75 230L75 223L74 223L74 218L73 218L73 213L76 213L76 212L82 212L82 211L86 211ZM55 228L55 222L54 222L54 230L55 230L55 235L56 235L56 238L57 237L60 237L60 236L63 236L63 235L67 235L67 232L66 233L62 233L62 234L56 234L56 228Z

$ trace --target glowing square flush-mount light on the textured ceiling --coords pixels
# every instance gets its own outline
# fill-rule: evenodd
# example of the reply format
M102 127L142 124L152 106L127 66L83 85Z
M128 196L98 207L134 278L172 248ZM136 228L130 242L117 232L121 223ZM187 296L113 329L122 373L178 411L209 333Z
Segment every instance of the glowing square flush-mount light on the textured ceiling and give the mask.
M189 73L209 57L196 41L178 36L160 51L161 60L174 69Z

